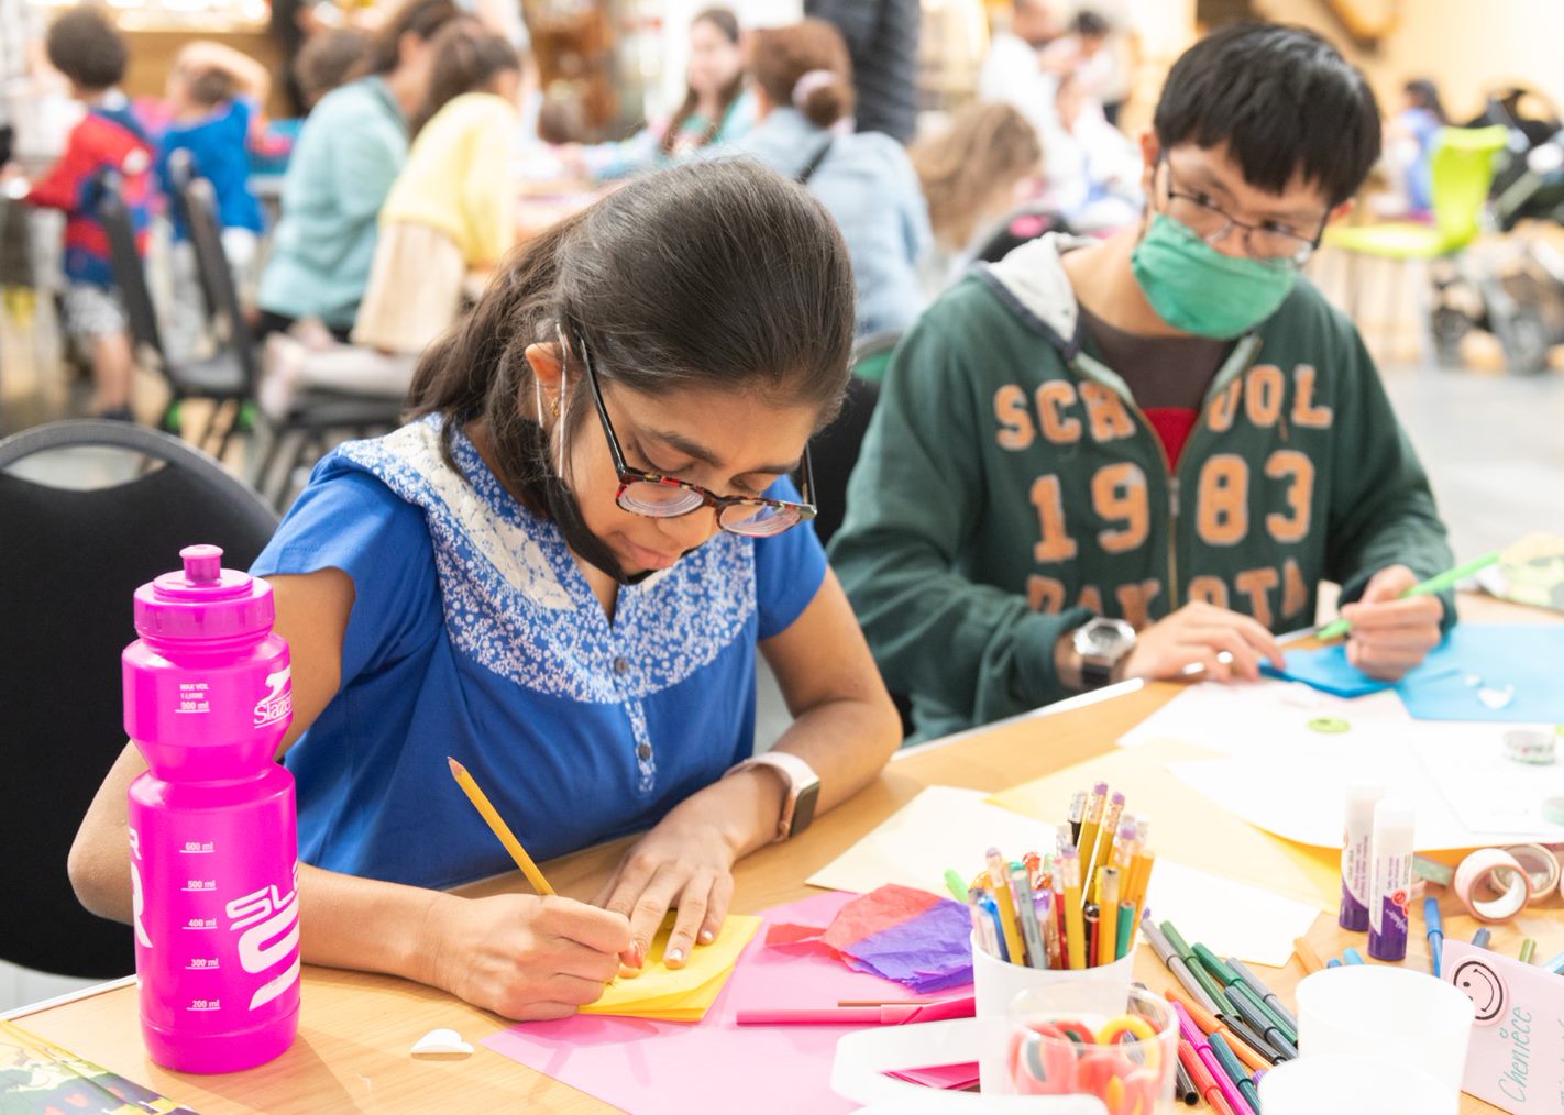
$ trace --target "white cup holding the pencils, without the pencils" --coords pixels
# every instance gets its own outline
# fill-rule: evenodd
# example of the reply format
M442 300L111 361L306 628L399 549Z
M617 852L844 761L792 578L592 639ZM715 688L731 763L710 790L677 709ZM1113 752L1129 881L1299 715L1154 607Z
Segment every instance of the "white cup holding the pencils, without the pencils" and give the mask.
M1054 971L1007 963L990 955L973 941L973 998L984 1027L978 1073L982 1090L1006 1093L1004 1048L1009 1038L1010 1004L1026 991L1040 996L1038 1006L1056 1004L1060 1012L1095 1015L1123 1013L1129 996L1129 981L1135 966L1131 951L1123 960L1098 968Z

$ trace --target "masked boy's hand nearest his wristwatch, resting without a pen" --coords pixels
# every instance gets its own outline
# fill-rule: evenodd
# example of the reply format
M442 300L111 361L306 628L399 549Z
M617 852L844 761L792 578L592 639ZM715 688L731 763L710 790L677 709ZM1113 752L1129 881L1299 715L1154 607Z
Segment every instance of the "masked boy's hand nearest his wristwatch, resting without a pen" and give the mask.
M1231 655L1226 661L1218 657L1223 652ZM1176 679L1200 665L1214 682L1256 682L1262 660L1282 668L1281 647L1268 630L1250 616L1192 601L1140 632L1125 677Z

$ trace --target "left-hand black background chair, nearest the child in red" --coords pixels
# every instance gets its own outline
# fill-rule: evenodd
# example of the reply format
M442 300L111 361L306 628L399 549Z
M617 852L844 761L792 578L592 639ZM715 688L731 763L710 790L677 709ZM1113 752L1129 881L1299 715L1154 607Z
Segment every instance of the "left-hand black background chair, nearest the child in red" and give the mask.
M255 397L253 358L247 358L233 344L219 347L211 357L199 360L170 360L163 347L158 330L158 314L147 289L147 272L142 269L141 252L136 250L136 233L130 222L130 210L120 194L119 175L102 178L97 214L108 233L109 267L119 286L130 319L130 335L136 342L139 360L153 367L169 386L169 405L160 425L177 432L180 405L188 399L208 399L213 413L202 428L200 438L191 438L199 447L216 443L213 452L222 457L239 421L239 408ZM222 419L227 421L222 421Z

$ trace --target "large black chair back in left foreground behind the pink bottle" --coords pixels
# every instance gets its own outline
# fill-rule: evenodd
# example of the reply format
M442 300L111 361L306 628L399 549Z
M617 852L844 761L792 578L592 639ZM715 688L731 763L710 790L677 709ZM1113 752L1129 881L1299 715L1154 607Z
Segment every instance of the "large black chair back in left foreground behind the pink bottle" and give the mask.
M94 489L42 483L45 450L113 461L131 479ZM27 461L22 469L16 466ZM77 468L88 468L89 463ZM206 454L127 422L56 422L0 441L0 848L11 899L0 959L83 979L135 966L130 929L77 902L66 857L92 794L125 746L120 651L131 594L216 543L247 568L275 513Z

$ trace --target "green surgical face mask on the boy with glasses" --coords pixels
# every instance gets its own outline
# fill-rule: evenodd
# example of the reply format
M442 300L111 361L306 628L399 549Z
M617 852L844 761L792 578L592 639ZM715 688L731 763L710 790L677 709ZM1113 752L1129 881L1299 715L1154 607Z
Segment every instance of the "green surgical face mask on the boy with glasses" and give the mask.
M1173 328L1229 341L1276 313L1298 281L1292 267L1223 255L1167 214L1129 255L1146 302Z

